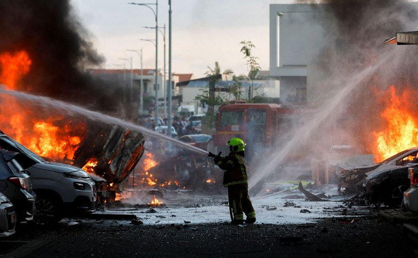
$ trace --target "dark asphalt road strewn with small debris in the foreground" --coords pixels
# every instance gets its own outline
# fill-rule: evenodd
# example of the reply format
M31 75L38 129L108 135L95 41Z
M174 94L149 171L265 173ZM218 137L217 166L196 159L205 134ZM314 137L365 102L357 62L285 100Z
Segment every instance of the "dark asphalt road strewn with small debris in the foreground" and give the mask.
M50 228L22 224L0 239L1 258L418 257L401 223L377 215L299 225L137 225L66 219Z

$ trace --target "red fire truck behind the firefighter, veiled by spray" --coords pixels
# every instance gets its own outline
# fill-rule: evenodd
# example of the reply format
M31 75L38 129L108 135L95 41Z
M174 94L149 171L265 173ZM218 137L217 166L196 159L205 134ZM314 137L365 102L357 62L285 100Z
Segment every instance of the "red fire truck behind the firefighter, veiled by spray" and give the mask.
M240 137L247 143L246 153L263 153L280 148L310 110L281 107L279 104L227 104L219 107L213 135L216 153L228 153L225 143Z

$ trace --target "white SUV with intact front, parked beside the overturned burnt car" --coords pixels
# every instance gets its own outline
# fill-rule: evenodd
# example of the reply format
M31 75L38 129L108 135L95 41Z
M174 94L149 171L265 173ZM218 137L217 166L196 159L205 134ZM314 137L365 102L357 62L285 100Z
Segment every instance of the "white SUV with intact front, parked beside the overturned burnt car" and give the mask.
M95 183L82 169L47 162L1 131L0 146L22 154L15 159L30 172L32 190L37 195L36 223L58 222L65 214L96 209Z

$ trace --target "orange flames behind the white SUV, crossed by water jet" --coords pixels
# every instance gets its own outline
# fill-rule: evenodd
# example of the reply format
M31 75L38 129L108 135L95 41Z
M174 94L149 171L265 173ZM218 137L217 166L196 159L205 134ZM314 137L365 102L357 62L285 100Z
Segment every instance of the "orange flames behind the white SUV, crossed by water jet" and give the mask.
M17 90L31 64L29 55L23 50L1 54L0 83L8 90ZM0 114L2 131L38 155L54 160L71 160L86 131L82 123L75 130L70 121L56 112L47 117L47 112L33 111L30 104L6 96L0 104Z

